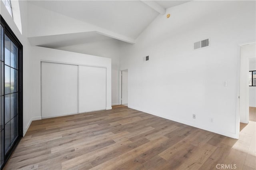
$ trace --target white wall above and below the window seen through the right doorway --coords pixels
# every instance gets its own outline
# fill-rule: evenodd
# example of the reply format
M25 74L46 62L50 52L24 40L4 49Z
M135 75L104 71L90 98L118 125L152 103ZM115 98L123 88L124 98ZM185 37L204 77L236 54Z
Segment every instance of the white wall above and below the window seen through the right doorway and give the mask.
M256 70L256 59L249 59L249 71ZM256 87L249 87L249 107L256 107Z

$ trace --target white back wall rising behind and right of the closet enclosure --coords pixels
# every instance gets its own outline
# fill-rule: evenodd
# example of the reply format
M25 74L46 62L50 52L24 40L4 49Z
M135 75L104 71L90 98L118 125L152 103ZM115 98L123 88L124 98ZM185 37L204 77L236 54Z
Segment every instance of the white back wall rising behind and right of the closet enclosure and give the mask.
M77 45L70 45L66 47L59 47L57 49L65 51L73 51L77 53L84 53L89 55L97 55L101 57L111 58L111 92L112 92L112 105L119 104L119 46L122 43L119 40L107 40L100 42L83 43Z

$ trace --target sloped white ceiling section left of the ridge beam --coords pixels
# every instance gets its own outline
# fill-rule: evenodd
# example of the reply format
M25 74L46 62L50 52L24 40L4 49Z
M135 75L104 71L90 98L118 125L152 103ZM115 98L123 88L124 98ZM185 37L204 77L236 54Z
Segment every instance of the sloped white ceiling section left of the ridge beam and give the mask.
M29 2L134 39L158 16L158 12L141 1L32 0Z

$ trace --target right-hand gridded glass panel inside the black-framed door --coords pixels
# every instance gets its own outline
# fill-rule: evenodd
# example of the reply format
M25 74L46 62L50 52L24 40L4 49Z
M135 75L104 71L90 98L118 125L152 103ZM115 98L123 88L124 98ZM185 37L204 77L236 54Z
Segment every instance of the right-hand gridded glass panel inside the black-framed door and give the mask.
M4 154L18 137L18 48L4 36Z

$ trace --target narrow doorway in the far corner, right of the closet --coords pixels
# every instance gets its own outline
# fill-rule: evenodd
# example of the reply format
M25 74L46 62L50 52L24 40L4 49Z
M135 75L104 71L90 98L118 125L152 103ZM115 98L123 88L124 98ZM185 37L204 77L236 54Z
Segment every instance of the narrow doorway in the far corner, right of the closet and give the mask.
M128 106L128 70L121 71L121 105Z

